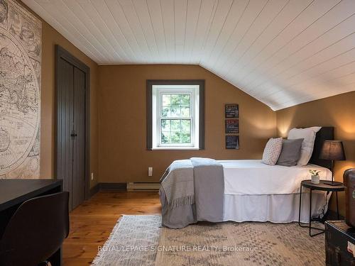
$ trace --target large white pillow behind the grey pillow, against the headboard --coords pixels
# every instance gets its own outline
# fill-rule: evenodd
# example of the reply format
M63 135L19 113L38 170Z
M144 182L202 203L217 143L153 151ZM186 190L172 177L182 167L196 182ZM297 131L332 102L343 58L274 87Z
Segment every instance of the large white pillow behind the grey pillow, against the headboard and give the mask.
M315 135L320 131L321 126L313 126L312 128L293 128L288 133L288 140L303 138L301 147L301 156L297 165L307 165L312 157L313 147L315 145Z

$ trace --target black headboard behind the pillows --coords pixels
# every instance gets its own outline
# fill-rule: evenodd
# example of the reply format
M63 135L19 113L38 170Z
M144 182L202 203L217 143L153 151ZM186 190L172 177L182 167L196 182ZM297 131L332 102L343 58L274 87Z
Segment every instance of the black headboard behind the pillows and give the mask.
M315 136L315 147L313 148L312 157L310 158L309 163L331 169L331 161L320 159L320 152L322 150L324 140L334 140L334 127L322 126L320 131L317 132L317 135Z

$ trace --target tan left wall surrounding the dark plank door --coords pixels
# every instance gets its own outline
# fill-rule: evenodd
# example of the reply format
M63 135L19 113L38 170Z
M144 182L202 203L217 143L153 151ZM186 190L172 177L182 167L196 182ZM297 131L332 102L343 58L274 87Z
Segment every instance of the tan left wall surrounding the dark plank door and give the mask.
M20 2L21 3L21 2ZM23 6L26 7L23 3ZM26 7L28 9L28 7ZM28 9L31 11L31 9ZM31 11L34 13L33 11ZM34 13L35 14L35 13ZM39 18L39 16L38 16ZM42 20L42 19L41 19ZM59 44L90 67L91 71L91 155L90 169L94 172L92 187L98 174L98 132L97 132L97 63L84 55L52 26L42 20L42 86L40 116L40 177L54 177L55 162L55 45Z

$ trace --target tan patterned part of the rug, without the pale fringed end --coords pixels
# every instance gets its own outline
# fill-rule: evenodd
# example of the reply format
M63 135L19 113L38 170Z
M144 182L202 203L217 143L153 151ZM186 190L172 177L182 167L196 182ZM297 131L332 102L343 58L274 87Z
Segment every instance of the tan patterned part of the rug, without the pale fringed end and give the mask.
M324 235L311 238L297 223L199 223L163 228L157 265L324 265ZM192 247L195 250L182 250Z

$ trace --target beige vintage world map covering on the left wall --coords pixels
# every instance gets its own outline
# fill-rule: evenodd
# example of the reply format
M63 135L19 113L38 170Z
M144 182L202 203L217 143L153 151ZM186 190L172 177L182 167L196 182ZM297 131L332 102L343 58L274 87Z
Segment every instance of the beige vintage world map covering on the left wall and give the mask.
M0 179L40 175L42 24L0 0Z

